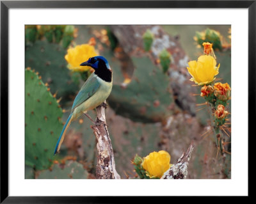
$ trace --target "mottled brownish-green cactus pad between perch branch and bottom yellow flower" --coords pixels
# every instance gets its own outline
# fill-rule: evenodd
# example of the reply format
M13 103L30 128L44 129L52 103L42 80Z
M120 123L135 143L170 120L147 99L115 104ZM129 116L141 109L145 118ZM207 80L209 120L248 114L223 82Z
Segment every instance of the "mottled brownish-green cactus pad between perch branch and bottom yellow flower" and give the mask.
M133 175L134 166L128 161L132 161L136 153L145 157L150 152L161 150L159 149L161 142L159 123L133 122L129 118L115 114L115 110L110 107L106 109L106 120L115 152L116 171L120 173L121 178L125 178L125 172ZM91 144L92 142L93 140ZM86 152L89 151L86 150Z

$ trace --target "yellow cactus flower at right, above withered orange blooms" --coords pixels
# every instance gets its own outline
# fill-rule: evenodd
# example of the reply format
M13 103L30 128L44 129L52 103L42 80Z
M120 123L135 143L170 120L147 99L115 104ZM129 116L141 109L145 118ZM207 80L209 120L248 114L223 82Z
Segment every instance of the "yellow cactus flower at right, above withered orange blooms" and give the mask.
M190 81L194 81L198 85L209 84L215 80L219 74L219 68L216 67L216 60L212 56L202 55L196 61L189 61L188 72L192 76Z

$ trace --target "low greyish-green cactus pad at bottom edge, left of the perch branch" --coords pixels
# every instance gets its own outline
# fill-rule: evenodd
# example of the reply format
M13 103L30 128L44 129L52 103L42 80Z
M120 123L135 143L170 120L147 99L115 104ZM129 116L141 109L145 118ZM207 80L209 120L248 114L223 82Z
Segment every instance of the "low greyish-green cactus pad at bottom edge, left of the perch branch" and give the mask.
M88 172L83 165L76 161L67 161L66 164L53 164L51 169L44 170L38 179L84 179Z

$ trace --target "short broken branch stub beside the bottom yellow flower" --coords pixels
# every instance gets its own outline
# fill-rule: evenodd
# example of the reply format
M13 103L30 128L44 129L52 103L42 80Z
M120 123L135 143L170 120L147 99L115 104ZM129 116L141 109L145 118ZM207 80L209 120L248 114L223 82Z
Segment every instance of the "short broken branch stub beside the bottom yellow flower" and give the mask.
M188 175L188 162L191 157L191 153L194 149L194 143L189 145L189 148L186 153L182 153L180 159L178 159L177 164L168 169L161 179L184 179Z

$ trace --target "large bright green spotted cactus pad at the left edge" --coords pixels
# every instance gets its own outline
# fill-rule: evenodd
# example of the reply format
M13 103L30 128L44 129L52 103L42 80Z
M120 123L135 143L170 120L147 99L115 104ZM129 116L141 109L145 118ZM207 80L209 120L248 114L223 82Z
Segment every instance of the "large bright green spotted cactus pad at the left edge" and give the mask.
M36 170L49 168L62 130L62 111L38 75L25 70L25 162Z

